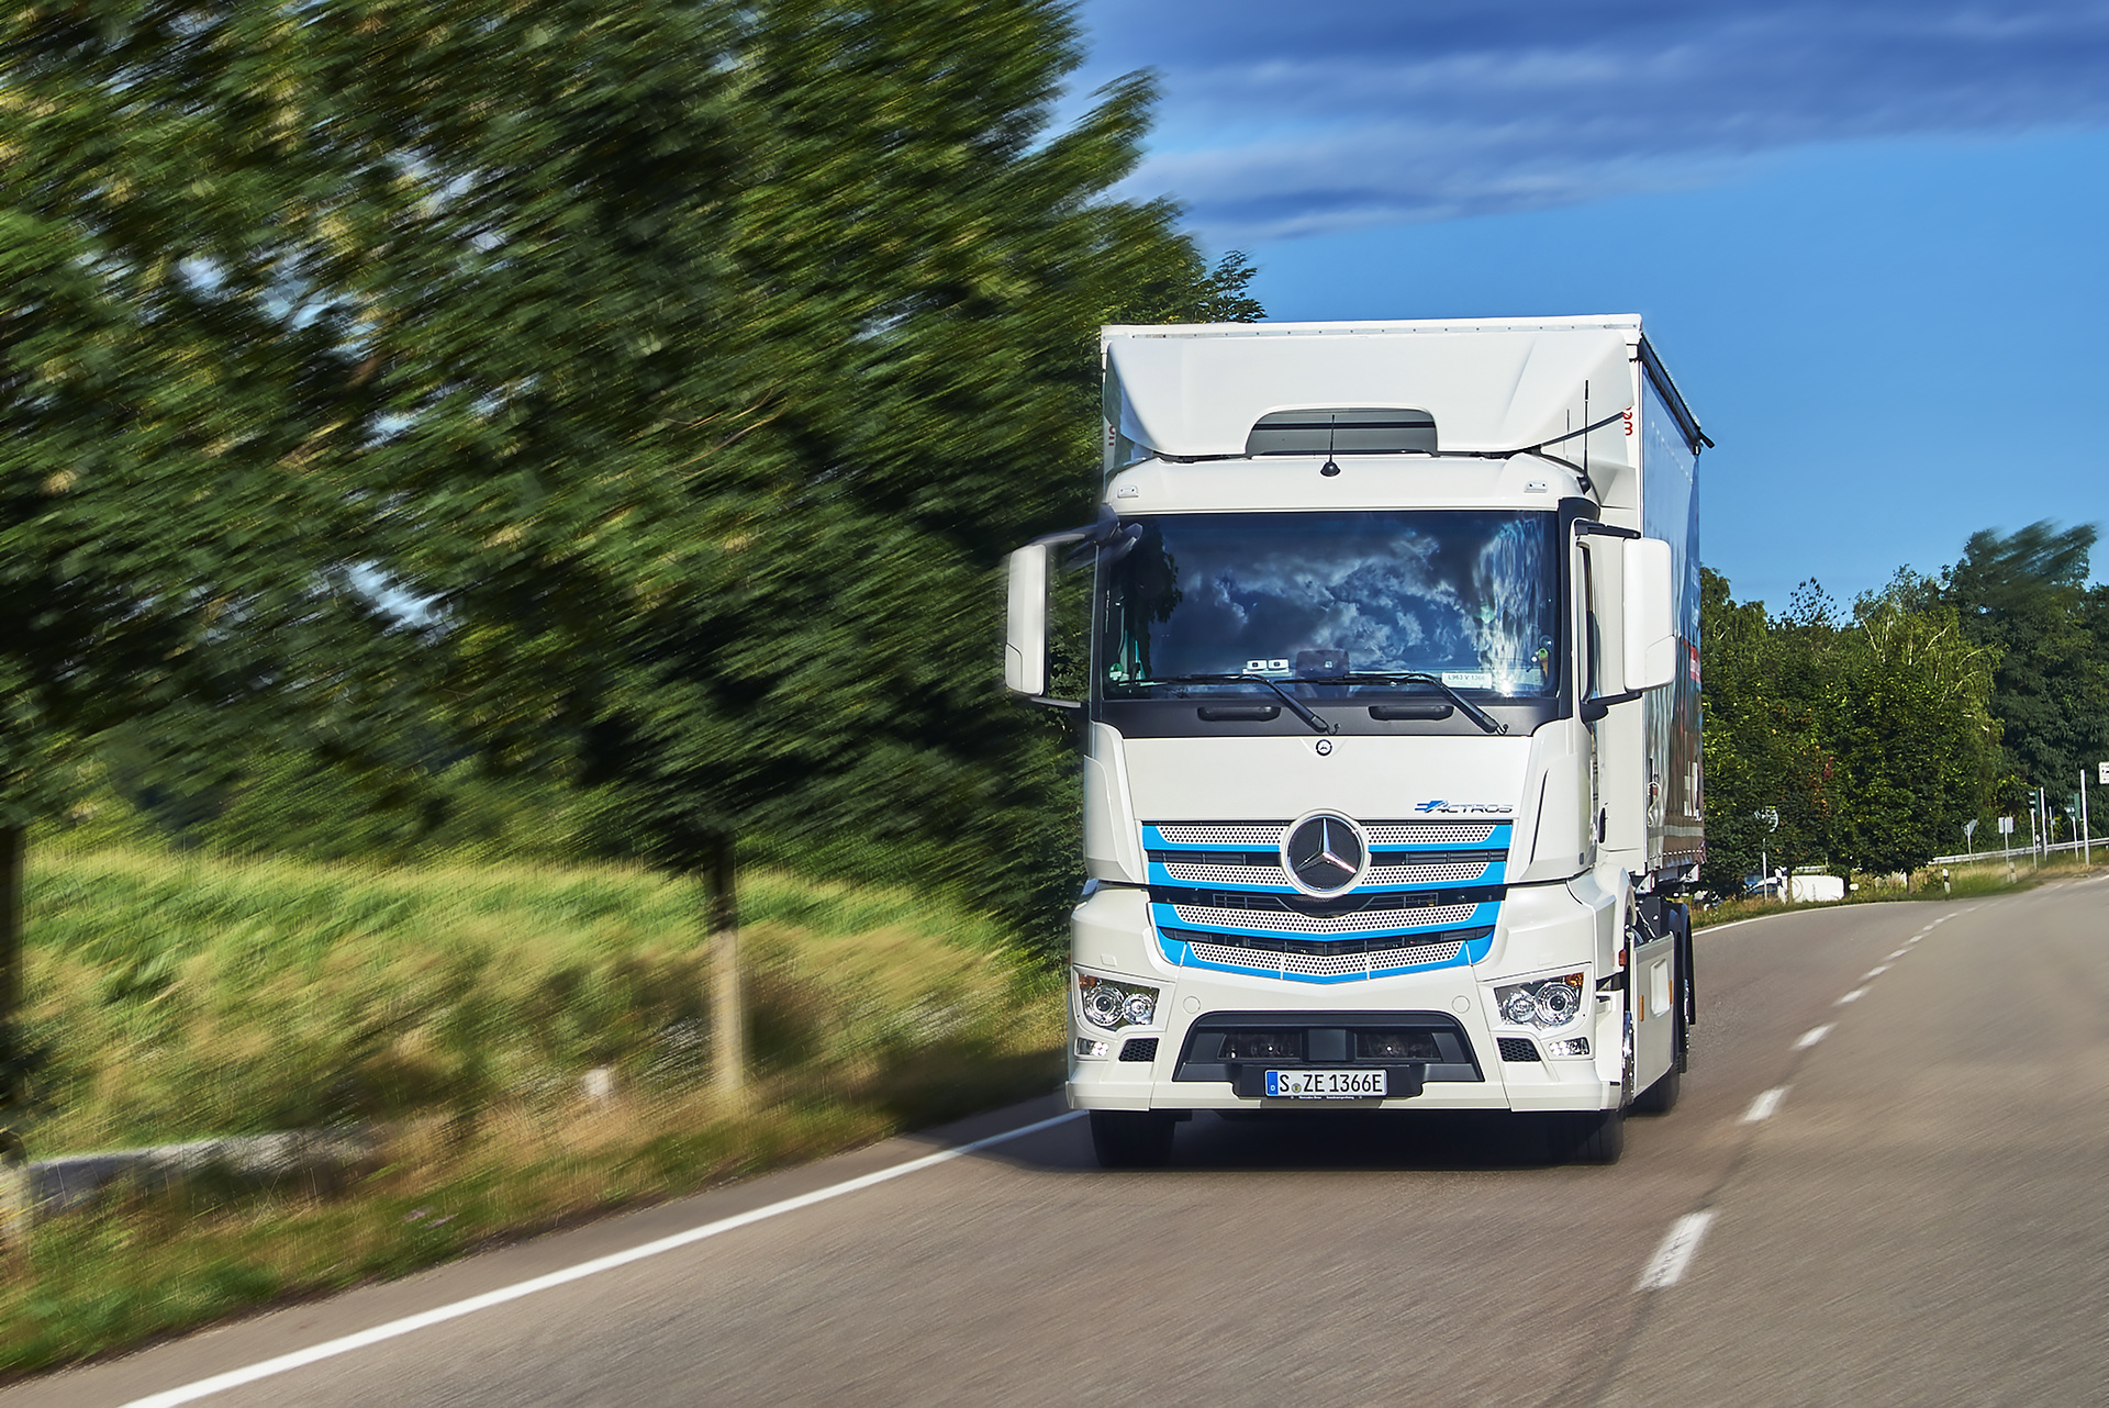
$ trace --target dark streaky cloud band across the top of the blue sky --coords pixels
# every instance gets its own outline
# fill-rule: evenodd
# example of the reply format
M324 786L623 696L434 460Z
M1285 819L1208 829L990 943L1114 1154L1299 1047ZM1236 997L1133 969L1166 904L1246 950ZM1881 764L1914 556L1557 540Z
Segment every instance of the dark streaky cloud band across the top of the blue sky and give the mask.
M1152 156L1219 242L1571 204L1818 141L2109 124L2109 6L1101 0Z

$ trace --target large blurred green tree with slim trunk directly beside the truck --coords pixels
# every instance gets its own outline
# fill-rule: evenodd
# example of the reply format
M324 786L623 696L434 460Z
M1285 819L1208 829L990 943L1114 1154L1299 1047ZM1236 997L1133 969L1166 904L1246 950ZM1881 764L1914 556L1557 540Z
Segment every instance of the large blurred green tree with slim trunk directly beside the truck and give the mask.
M742 839L1059 911L1067 765L998 687L995 567L1090 512L1103 314L1251 308L1168 204L1105 198L1147 86L1050 133L1042 0L363 8L399 48L331 82L418 154L361 217L390 571L498 757L576 748L702 877L721 1075Z

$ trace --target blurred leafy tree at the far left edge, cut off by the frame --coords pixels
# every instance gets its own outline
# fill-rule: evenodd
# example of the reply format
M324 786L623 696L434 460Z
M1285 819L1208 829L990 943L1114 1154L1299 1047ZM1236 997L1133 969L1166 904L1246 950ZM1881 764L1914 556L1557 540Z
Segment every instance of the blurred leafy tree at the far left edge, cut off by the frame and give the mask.
M331 565L359 542L333 468L375 405L314 280L333 175L302 139L291 27L181 4L0 21L8 1104L30 824L78 793L93 740L150 725L150 771L209 778L255 706L327 698L371 643Z

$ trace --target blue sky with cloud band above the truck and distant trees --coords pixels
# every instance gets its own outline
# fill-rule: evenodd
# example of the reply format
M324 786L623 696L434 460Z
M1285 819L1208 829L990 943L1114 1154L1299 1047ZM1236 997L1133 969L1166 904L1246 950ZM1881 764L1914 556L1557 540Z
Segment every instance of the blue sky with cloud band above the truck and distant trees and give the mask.
M1160 82L1124 192L1249 251L1270 316L1643 314L1719 443L1704 559L1738 597L2109 531L2109 4L1080 17L1080 93Z

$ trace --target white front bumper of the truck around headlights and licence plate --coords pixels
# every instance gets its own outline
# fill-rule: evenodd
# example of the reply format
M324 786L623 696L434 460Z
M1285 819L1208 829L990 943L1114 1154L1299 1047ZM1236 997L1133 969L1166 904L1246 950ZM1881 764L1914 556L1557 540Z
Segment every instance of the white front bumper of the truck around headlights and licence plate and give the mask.
M1588 1056L1546 1056L1548 1033L1495 1018L1493 986L1559 967L1615 972L1611 898L1592 885L1516 887L1485 957L1449 967L1310 984L1166 961L1145 898L1099 889L1071 921L1078 972L1158 989L1149 1024L1105 1031L1069 1001L1071 1109L1472 1109L1594 1111L1622 1098L1624 995L1601 993L1552 1037L1588 1037ZM1276 1058L1240 1058L1225 1033L1282 1033ZM1394 1033L1398 1041L1384 1037ZM1375 1039L1373 1039L1375 1037ZM1529 1043L1535 1060L1514 1060ZM1508 1048L1504 1052L1504 1048ZM1101 1054L1103 1052L1103 1054ZM1409 1052L1409 1056L1400 1056ZM1386 1067L1386 1098L1270 1100L1265 1069Z

